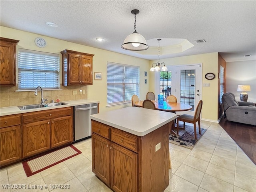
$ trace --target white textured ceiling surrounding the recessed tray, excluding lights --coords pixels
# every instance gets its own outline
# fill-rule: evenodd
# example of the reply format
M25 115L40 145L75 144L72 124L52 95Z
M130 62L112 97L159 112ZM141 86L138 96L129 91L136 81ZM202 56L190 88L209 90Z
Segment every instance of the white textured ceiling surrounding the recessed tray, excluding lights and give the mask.
M69 42L110 50L148 60L154 55L124 50L124 39L136 29L148 46L157 47L157 38L185 38L194 46L172 58L220 52L226 62L256 60L256 1L86 1L35 0L0 1L0 25ZM47 26L54 22L57 28ZM98 42L97 37L105 40ZM195 40L204 38L206 43ZM160 46L166 44L160 41ZM160 53L161 54L161 53ZM244 55L251 54L250 57Z

